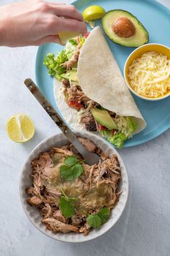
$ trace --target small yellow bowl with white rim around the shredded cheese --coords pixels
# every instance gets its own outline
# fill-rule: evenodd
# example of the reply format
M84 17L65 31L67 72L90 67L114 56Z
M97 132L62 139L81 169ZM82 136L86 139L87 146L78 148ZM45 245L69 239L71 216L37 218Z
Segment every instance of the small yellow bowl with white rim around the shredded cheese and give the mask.
M132 93L134 93L135 95L137 95L139 98L143 98L144 100L147 100L147 101L160 101L164 98L169 97L170 91L169 91L169 93L166 93L166 95L160 96L158 98L145 97L143 95L135 93L135 90L133 90L133 88L131 87L129 79L128 79L129 67L133 63L133 60L140 58L143 54L145 54L149 51L156 51L158 54L164 54L164 55L168 56L168 59L170 59L170 48L168 46L164 46L162 44L148 43L144 46L140 46L139 48L136 48L135 51L133 51L132 54L130 54L130 56L128 56L128 59L125 62L125 67L124 67L125 82L126 82L126 85L128 85L129 90Z

